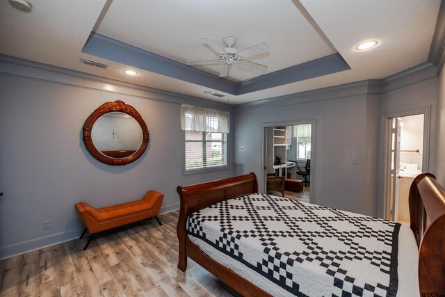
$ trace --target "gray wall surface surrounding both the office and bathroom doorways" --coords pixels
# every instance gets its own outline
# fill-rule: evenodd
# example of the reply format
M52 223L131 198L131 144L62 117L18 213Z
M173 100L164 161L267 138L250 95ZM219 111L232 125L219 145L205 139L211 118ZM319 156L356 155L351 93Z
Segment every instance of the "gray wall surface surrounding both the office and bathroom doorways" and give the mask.
M237 106L234 159L259 176L262 125L315 120L312 187L316 204L383 216L382 119L437 108L436 68L426 63L380 81L362 81ZM436 114L430 113L427 168L435 163ZM245 151L238 150L245 146ZM351 164L358 158L359 164Z

